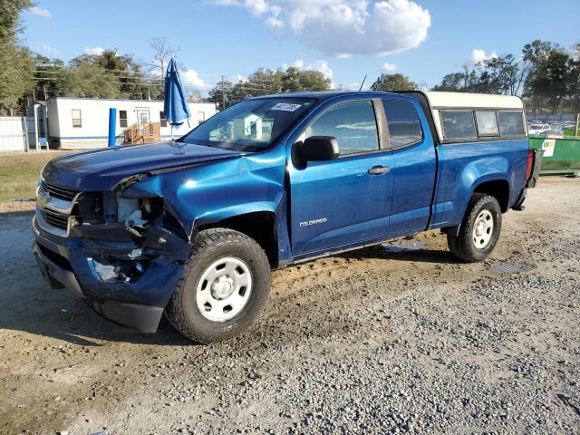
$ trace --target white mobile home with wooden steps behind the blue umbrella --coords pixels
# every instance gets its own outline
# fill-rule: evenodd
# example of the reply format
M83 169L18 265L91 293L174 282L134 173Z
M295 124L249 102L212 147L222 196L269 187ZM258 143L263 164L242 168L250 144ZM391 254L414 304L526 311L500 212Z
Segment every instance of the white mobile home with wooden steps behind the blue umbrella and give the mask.
M135 123L160 122L161 140L169 140L171 127L163 114L163 102L53 97L47 102L49 143L53 149L102 148L107 146L109 109L117 109L115 136ZM217 110L213 102L190 102L191 118L173 128L173 136L187 133ZM119 143L119 142L118 142Z

